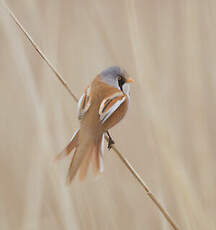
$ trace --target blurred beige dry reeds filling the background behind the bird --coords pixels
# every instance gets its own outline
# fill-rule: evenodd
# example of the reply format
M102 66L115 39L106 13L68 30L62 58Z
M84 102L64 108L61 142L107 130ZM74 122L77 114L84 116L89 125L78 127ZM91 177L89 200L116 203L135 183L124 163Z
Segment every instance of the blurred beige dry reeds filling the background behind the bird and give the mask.
M112 130L180 229L216 228L214 1L7 1L74 93L103 68L136 79ZM52 160L76 104L0 5L0 229L171 229L113 152L65 186Z

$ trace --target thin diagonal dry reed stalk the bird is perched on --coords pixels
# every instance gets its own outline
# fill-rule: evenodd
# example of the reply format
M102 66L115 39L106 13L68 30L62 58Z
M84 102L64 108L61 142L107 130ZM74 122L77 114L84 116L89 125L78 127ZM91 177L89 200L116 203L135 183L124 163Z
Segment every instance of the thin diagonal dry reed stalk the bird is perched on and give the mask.
M61 74L56 70L56 68L52 65L52 63L49 61L49 59L45 56L45 54L42 52L40 47L34 42L34 40L31 38L30 34L24 29L22 24L19 22L17 17L14 15L14 13L8 8L8 6L2 1L3 6L7 10L8 14L11 16L11 18L14 20L14 22L17 24L17 26L21 29L21 31L24 33L26 38L29 40L29 42L32 44L34 49L38 52L38 54L41 56L41 58L47 63L47 65L50 67L50 69L53 71L55 76L60 80L60 82L63 84L65 89L69 92L69 94L72 96L72 98L78 102L78 98L73 94L72 90L68 86L67 82L63 79ZM108 141L108 137L106 136L106 140ZM157 200L155 195L151 192L149 187L146 185L144 180L140 177L140 175L136 172L136 170L133 168L133 166L130 164L130 162L123 156L123 154L115 147L112 146L113 151L119 156L121 161L125 164L125 166L128 168L128 170L131 172L131 174L135 177L137 182L143 187L146 194L150 197L150 199L154 202L154 204L158 207L162 215L166 218L166 220L169 222L169 224L172 226L174 230L179 230L179 227L177 227L174 220L170 217L168 211L160 204L160 202Z

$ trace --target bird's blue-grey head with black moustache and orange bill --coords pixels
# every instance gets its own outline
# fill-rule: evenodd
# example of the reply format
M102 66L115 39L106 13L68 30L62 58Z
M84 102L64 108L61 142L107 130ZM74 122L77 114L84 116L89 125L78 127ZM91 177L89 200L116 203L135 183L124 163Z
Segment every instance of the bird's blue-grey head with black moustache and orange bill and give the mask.
M100 76L106 84L120 89L125 94L129 94L129 86L127 83L133 82L133 80L129 78L128 73L124 69L119 66L111 66L102 71Z

